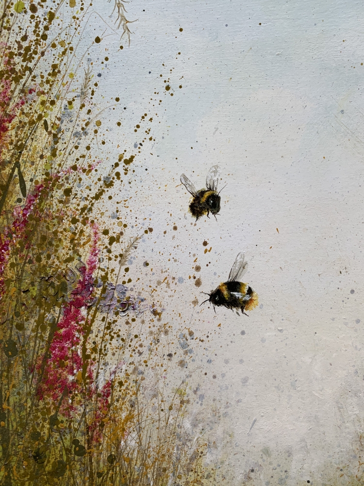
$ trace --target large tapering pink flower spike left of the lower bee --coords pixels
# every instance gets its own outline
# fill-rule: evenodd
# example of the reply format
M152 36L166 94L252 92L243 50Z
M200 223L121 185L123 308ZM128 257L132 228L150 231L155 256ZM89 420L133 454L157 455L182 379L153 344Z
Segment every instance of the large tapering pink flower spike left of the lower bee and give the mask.
M65 388L69 391L82 389L82 385L77 381L77 373L83 367L80 344L85 332L83 326L85 317L82 309L92 302L93 274L97 268L99 256L98 226L93 225L92 231L91 251L85 266L80 269L82 277L78 281L76 289L72 291L69 302L63 308L63 316L50 345L50 357L47 359L43 380L38 389L39 399L43 399L47 395L52 400L58 401ZM61 362L63 367L60 366ZM38 370L40 369L41 360L36 367ZM87 377L92 380L91 369L87 371Z

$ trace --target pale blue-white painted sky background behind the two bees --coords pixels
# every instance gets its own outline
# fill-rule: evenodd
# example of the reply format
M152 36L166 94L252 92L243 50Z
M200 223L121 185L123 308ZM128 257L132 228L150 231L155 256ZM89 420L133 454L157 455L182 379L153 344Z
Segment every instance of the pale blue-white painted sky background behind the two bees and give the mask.
M193 411L216 438L209 460L225 461L232 485L249 468L257 484L325 483L337 467L356 466L362 430L362 5L135 0L128 11L139 18L131 47L113 54L103 78L127 107L115 113L128 114L116 142L131 148L140 115L158 112L155 144L134 167L139 190L129 194L129 225L144 215L154 228L132 272L152 286L168 268L170 280L183 279L154 298L176 333L186 325L204 338L176 375L195 370ZM114 53L120 44L116 35L102 42ZM174 97L163 94L153 108L169 69ZM216 163L220 188L227 184L221 216L193 226L179 176L203 187ZM249 317L195 307L200 291L227 279L241 250L260 307ZM188 278L196 257L199 288ZM145 275L144 260L154 275Z

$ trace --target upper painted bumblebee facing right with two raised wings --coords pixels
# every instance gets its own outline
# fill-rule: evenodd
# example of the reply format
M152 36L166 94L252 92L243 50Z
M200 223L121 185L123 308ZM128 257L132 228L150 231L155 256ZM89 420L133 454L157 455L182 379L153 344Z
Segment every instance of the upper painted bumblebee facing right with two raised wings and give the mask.
M197 191L192 182L184 175L181 175L181 182L187 191L192 194L192 201L189 205L189 210L192 216L196 218L196 221L207 214L209 217L210 212L215 216L220 211L220 192L217 193L217 181L221 174L220 167L214 165L209 170L206 177L206 189Z

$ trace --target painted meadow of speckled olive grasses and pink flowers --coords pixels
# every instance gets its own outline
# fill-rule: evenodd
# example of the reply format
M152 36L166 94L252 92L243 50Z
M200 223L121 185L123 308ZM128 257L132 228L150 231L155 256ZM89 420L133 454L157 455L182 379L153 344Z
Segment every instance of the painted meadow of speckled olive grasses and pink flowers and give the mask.
M91 7L1 3L0 484L202 484L186 383L170 395L153 375L163 310L129 285L139 236L96 217L134 155L101 174Z

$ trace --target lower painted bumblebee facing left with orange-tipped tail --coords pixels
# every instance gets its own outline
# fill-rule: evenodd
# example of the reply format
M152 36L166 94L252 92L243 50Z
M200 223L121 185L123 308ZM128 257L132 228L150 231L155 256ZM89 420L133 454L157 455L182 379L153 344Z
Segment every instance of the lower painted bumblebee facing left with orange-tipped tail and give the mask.
M214 310L215 306L224 306L228 309L240 309L245 315L248 315L245 311L257 307L258 294L247 283L239 281L248 269L248 263L244 261L244 258L244 253L240 252L232 265L228 281L220 283L211 294L206 294L209 295L209 298L202 304L209 301L214 306ZM239 315L237 311L236 313Z

